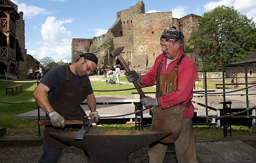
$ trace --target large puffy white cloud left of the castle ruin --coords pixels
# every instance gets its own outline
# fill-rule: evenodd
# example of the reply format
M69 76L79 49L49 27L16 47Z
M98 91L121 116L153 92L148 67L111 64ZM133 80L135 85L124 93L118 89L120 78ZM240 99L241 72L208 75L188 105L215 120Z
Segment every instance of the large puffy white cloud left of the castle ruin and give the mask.
M71 61L72 33L64 24L71 23L73 19L58 20L53 16L47 17L41 27L43 42L29 43L30 45L41 44L38 49L28 49L27 53L35 55L40 60L44 57L52 57L55 62Z

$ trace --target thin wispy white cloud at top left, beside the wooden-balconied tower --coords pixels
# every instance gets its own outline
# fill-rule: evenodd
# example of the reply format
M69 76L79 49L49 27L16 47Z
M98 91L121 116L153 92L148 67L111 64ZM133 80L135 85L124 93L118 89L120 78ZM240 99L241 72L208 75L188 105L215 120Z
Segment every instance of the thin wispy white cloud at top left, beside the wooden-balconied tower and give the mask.
M27 5L25 3L19 3L17 0L12 0L14 4L18 5L18 12L22 11L24 18L32 18L36 15L46 15L50 14L50 11L46 9L34 6L34 5Z

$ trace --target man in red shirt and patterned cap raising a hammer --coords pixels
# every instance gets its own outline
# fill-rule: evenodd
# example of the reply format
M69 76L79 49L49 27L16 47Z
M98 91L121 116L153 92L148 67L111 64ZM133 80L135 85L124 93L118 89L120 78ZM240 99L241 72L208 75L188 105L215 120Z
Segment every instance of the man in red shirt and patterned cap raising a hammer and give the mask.
M157 56L148 73L139 75L134 70L125 73L129 82L136 80L142 87L156 82L156 98L147 96L140 101L145 107L156 106L151 130L172 133L149 145L150 163L162 163L167 145L172 142L179 163L197 163L191 119L197 71L195 62L183 53L183 38L176 27L166 27L160 38L163 53Z

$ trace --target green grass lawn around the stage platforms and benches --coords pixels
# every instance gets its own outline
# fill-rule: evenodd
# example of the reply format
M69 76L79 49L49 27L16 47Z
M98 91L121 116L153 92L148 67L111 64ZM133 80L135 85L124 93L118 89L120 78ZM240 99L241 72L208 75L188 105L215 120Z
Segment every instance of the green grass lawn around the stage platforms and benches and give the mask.
M105 78L103 78L105 79ZM116 79L115 79L116 80ZM21 80L24 81L24 80ZM121 82L127 82L125 77L120 77ZM209 82L211 83L211 82ZM15 91L13 95L8 94L5 95L5 87L12 86L15 84L22 84L22 91ZM208 89L215 88L215 84L208 84ZM35 101L33 97L33 91L36 88L36 82L33 83L11 83L11 82L2 82L0 81L0 101L9 101L9 102L28 102ZM110 89L126 89L126 88L134 88L132 84L106 84L105 82L92 82L92 88L94 90L110 90ZM156 87L148 87L142 88L144 92L154 92L156 91ZM116 91L116 92L94 92L95 95L124 95L131 94L132 92L137 92L134 90L127 91ZM5 104L0 103L0 127L6 127L8 135L14 134L30 134L36 135L38 132L37 121L36 120L13 120L12 117L14 115L18 115L21 113L26 113L28 111L32 111L37 109L36 103L32 104ZM44 129L44 126L41 126L41 130ZM135 129L134 126L126 127L125 124L112 124L105 125L102 124L101 129ZM149 128L145 128L149 130ZM248 130L252 129L251 127L244 126L232 126L233 136L250 136L255 135L253 133L249 133ZM195 137L222 137L222 130L213 129L209 126L194 126L193 133Z

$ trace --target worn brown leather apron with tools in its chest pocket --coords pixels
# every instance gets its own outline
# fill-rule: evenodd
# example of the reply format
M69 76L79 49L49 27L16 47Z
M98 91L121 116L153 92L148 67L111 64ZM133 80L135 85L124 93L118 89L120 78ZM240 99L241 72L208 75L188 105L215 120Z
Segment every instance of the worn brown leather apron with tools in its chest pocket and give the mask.
M160 62L156 73L156 98L166 96L178 89L178 70L180 62L186 54L183 53L172 71L168 74L160 74L163 66L163 60ZM176 80L175 80L176 79ZM184 81L185 82L185 81ZM160 140L163 143L172 143L180 136L180 130L183 120L183 111L185 107L182 103L162 109L156 106L151 125L151 131L170 132L172 134Z

